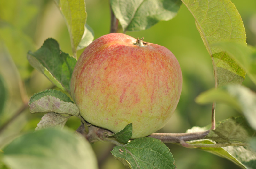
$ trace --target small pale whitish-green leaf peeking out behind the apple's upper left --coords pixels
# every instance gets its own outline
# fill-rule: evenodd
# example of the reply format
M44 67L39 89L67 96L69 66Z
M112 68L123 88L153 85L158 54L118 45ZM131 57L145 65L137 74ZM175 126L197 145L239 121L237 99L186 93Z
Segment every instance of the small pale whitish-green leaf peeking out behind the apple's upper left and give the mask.
M92 28L89 25L85 24L84 34L83 34L81 42L77 46L77 50L87 47L90 43L92 43L93 39L94 39L94 32L93 32Z

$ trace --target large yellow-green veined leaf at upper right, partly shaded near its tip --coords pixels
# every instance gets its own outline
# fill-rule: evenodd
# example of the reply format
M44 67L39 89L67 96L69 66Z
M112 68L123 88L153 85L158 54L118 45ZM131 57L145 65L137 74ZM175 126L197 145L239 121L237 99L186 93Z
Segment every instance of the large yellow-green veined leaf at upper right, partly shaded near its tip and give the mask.
M230 0L182 0L195 18L197 29L213 62L215 85L241 84L245 71L227 53L212 44L232 41L246 44L246 35L236 7Z

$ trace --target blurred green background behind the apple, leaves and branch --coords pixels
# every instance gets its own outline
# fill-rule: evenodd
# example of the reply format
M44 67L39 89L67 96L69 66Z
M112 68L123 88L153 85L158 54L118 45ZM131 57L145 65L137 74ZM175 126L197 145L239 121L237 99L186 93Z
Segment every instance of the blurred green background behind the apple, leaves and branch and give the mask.
M95 39L110 30L110 7L108 0L85 0L87 23L92 27ZM256 45L256 1L232 0L241 14L246 29L247 43ZM201 92L214 87L212 60L196 29L194 18L185 5L181 5L175 18L162 21L150 29L126 32L132 37L144 37L144 41L167 47L177 57L183 74L183 88L176 112L159 132L180 133L192 126L203 127L211 123L212 105L198 105L194 99ZM62 51L71 54L71 44L64 19L53 0L8 0L0 1L0 75L4 79L7 99L0 114L0 126L16 118L0 131L0 147L20 133L34 130L43 114L30 114L26 108L15 113L31 95L52 88L52 83L29 66L26 53L37 50L45 39L56 39ZM78 51L78 56L83 50ZM245 86L256 91L255 85L246 78ZM22 86L25 90L20 90ZM27 94L26 94L27 93ZM0 100L1 101L1 100ZM216 106L216 121L240 115L224 104ZM76 130L79 119L72 117L67 126ZM167 144L181 169L225 169L238 168L232 162L213 154ZM123 164L115 160L110 151L112 144L92 144L99 166L102 169L121 169Z

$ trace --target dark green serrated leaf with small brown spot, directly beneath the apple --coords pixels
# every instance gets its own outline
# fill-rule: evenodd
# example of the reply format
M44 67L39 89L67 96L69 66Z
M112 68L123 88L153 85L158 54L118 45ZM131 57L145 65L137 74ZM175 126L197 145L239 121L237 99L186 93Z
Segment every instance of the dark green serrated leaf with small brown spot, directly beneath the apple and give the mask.
M172 153L160 140L143 137L115 146L112 155L130 168L176 168Z

